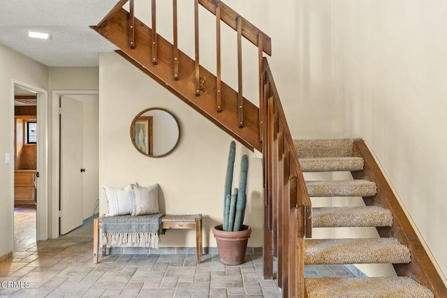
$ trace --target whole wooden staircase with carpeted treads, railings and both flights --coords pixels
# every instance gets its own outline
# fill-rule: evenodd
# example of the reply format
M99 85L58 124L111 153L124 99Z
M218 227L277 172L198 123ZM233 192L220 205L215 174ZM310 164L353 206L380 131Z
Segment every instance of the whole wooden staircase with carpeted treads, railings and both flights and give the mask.
M129 1L129 10L122 8ZM149 0L148 0L149 1ZM447 297L446 285L420 242L367 144L356 140L293 140L268 61L271 40L219 0L193 0L195 57L179 50L177 0L173 43L134 16L133 0L119 0L91 27L117 45L117 54L175 94L249 149L263 152L263 276L283 297ZM192 2L191 2L192 3ZM200 65L199 6L216 17L217 72ZM237 32L237 91L221 81L220 26ZM242 38L258 48L258 107L243 97ZM351 172L346 181L305 181L303 172ZM362 197L363 207L312 208L317 197ZM312 230L376 227L380 238L312 239ZM393 278L305 278L305 265L391 263Z

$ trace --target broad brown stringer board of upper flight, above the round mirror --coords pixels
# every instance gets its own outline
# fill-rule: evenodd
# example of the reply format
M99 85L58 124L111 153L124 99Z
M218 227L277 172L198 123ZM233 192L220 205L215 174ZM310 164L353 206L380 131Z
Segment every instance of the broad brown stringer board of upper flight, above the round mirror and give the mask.
M157 34L158 61L152 64L152 30L135 18L135 49L129 44L129 13L121 8L101 27L92 26L119 47L117 53L175 94L184 103L212 121L245 147L262 151L259 135L259 109L244 98L244 127L237 117L237 92L221 83L222 111L216 108L216 77L200 66L200 96L195 94L194 61L179 51L179 80L173 75L173 45Z

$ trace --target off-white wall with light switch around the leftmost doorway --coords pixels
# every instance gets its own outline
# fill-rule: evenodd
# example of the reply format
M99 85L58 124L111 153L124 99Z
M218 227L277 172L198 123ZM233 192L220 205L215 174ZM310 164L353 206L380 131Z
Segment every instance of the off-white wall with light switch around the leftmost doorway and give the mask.
M0 256L13 249L13 79L41 89L48 88L48 68L0 45ZM5 164L9 153L11 163Z

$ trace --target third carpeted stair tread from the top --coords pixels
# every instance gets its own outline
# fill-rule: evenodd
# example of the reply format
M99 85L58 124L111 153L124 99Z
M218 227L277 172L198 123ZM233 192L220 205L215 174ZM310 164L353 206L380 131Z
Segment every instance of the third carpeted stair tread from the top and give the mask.
M376 184L366 180L306 181L310 197L370 197Z

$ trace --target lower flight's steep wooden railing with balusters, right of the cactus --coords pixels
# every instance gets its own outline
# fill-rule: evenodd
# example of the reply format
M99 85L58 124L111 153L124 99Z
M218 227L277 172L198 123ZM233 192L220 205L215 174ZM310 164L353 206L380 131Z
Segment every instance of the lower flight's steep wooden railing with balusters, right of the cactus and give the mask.
M266 58L261 67L261 119L265 122L264 276L272 278L275 255L283 297L305 297L304 238L312 237L312 204Z

